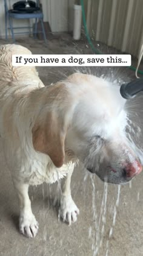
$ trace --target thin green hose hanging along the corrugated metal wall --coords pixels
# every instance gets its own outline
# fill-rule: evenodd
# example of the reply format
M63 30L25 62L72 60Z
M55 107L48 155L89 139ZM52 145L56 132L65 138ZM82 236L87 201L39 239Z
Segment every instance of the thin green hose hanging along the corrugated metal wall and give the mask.
M82 7L82 19L83 19L83 23L84 23L84 30L85 30L85 35L87 37L87 41L90 44L90 47L93 50L93 52L95 52L96 54L102 54L100 51L98 51L98 49L95 48L95 46L91 42L91 38L88 33L87 23L86 23L86 19L85 19L85 10L84 10L84 1L83 0L81 0L81 7ZM134 66L129 66L128 68L130 68L133 71L136 71L136 68ZM143 71L141 71L139 69L138 69L138 73L143 75Z

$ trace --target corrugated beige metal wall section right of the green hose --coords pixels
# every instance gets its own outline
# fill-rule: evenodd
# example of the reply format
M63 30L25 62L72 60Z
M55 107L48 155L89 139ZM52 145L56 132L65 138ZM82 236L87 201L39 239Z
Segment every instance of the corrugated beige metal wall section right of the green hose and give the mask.
M90 35L96 41L138 57L143 43L143 1L84 0L84 3Z

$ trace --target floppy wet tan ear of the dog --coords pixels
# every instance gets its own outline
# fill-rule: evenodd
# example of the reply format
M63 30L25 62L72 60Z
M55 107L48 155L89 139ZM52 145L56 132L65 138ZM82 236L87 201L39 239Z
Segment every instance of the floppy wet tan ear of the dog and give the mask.
M49 155L56 167L64 163L64 142L67 133L65 118L51 111L37 119L32 129L33 147L36 151Z

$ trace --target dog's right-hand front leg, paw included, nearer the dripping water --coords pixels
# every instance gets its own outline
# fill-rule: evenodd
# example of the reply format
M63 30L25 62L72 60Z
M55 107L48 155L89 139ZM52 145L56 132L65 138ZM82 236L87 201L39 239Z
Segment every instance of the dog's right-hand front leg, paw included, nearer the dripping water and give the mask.
M62 195L61 195L61 206L59 208L59 215L63 221L67 221L69 225L71 222L77 220L77 215L79 214L79 209L71 197L71 175L73 173L74 166L72 166L62 183Z

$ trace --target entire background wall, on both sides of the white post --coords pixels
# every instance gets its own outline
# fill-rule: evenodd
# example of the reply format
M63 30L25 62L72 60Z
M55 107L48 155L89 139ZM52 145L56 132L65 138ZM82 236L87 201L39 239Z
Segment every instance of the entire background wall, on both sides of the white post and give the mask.
M7 0L16 2L18 0ZM41 0L44 21L53 32L71 31L75 0ZM143 43L143 0L84 0L92 38L138 57ZM4 0L0 0L0 38L5 36ZM25 26L28 21L15 21Z

